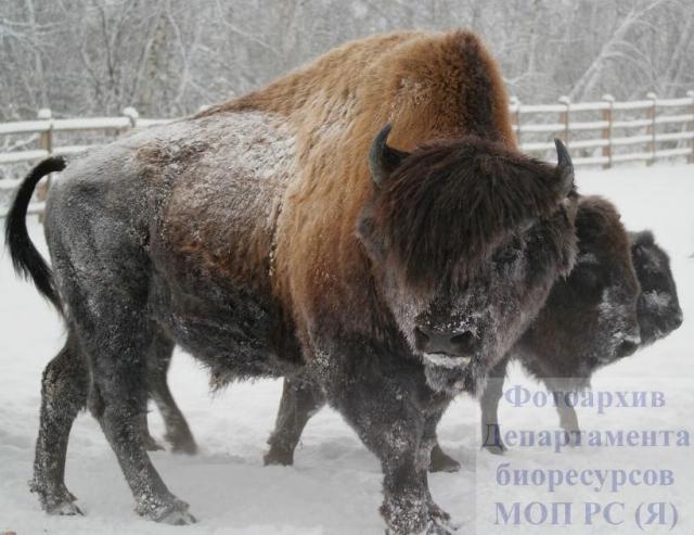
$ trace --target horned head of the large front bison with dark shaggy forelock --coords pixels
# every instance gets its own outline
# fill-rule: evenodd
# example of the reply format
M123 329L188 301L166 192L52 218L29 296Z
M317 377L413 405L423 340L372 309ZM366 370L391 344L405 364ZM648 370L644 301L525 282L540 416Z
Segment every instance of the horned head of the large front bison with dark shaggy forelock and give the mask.
M370 153L374 192L358 234L414 354L484 378L576 254L574 170L476 137ZM428 377L428 375L427 375ZM432 382L432 381L429 381Z

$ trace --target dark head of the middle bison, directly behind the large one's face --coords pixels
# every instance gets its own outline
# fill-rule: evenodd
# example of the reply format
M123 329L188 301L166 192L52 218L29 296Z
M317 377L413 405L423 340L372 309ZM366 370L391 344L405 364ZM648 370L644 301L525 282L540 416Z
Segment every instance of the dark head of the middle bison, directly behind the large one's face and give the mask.
M580 387L596 368L639 347L641 286L627 231L609 202L581 198L576 233L579 253L574 269L556 281L517 349L536 374L570 379Z

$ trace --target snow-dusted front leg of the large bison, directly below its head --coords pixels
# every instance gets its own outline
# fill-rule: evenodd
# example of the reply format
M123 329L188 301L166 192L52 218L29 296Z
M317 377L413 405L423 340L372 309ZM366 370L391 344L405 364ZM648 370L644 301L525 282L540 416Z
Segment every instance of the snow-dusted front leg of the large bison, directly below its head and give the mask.
M422 399L427 392L423 371L407 364L400 372L389 366L382 370L374 362L378 358L373 356L358 377L347 372L330 384L325 388L329 403L381 461L381 514L390 533L452 533L446 524L448 514L434 504L428 489L433 442L425 438L430 396Z

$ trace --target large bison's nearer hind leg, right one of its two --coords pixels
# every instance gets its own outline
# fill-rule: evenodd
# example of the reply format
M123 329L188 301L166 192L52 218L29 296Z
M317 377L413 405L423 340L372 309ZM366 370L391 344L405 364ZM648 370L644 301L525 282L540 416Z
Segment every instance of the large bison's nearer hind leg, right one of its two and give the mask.
M104 269L95 271L103 273ZM116 288L124 285L114 283ZM85 286L69 293L69 307L90 364L88 407L118 459L136 500L136 512L163 523L193 523L188 504L169 492L142 441L141 417L147 402L146 355L155 336L146 304L140 298L146 290L128 294L110 291L108 284Z

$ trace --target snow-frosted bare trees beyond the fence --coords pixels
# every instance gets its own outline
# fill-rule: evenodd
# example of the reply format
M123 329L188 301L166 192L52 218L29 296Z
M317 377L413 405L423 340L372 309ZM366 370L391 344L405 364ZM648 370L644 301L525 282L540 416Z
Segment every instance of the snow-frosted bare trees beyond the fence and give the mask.
M694 86L691 0L0 0L0 120L190 113L349 39L470 27L524 102Z

